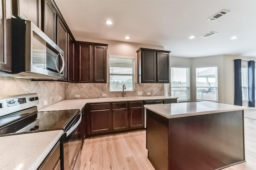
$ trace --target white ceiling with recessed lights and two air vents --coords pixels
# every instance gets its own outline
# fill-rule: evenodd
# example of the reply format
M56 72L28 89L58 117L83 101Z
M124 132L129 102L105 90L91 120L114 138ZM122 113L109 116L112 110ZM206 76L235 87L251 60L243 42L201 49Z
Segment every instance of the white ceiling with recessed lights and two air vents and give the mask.
M55 0L76 40L163 46L179 57L256 57L256 0ZM230 12L207 19L220 10ZM112 20L106 25L105 20ZM218 32L208 38L200 37ZM124 39L126 35L129 40ZM188 39L196 35L194 39ZM231 40L232 36L239 36ZM84 40L84 39L83 39Z

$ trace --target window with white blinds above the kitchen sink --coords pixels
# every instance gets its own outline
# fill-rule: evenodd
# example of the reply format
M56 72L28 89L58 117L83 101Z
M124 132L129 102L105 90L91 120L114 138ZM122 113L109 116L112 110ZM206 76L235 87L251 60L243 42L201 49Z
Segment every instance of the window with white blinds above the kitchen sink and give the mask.
M109 57L109 91L135 90L134 57Z

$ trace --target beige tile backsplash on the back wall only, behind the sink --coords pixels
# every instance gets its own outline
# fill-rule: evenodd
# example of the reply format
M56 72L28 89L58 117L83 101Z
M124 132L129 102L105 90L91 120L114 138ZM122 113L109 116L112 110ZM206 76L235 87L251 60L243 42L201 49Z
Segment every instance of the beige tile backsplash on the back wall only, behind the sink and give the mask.
M138 96L138 92L142 92L142 96L163 96L164 84L160 83L136 83L134 92L126 92L125 97ZM107 94L102 97L102 94ZM75 95L81 98L113 98L122 97L122 92L109 92L109 83L72 83L66 84L66 99L75 99Z

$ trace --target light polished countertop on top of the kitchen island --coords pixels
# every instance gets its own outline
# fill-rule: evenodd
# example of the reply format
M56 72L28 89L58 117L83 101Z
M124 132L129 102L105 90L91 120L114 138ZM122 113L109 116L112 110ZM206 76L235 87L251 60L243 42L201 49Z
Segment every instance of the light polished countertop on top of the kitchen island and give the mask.
M162 115L163 117L166 117L167 119L247 109L247 107L243 106L234 106L216 102L155 104L145 105L144 107L159 115Z

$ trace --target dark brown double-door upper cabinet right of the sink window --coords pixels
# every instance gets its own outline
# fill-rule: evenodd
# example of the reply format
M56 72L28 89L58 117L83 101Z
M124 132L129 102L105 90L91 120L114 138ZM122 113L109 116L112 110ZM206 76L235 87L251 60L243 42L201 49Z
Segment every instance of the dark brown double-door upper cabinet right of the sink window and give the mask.
M139 83L170 83L170 51L140 48L136 52Z

